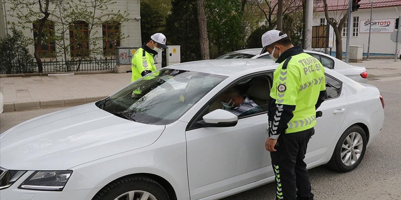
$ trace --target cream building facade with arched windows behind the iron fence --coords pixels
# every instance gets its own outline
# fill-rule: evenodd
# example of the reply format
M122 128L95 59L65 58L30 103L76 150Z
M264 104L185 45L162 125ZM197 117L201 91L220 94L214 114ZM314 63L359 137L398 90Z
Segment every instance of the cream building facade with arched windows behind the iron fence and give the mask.
M15 22L18 23L18 18L15 17L15 14L11 13L11 8L12 4L10 1L4 1L0 0L1 4L1 9L0 9L0 37L4 37L5 34L11 34L10 31L10 25L9 23ZM36 4L37 6L37 4ZM48 34L49 32L55 32L55 35L60 34L57 32L61 27L60 23L57 23L58 20L60 20L60 16L57 15L57 12L55 12L55 6L50 7L49 10L52 10L51 15L49 16L48 22L45 25L45 28L43 30L44 34ZM38 8L34 8L34 11L39 12ZM64 34L64 42L65 44L75 44L71 46L69 49L70 53L67 55L67 59L71 59L74 57L79 57L84 54L85 50L90 50L92 48L103 48L103 54L97 54L93 55L91 54L90 56L94 56L97 58L102 58L104 56L115 56L115 47L116 46L127 46L127 47L138 47L141 46L141 28L140 28L140 0L115 0L115 4L111 4L108 6L108 12L105 14L104 12L101 12L100 10L97 10L98 12L94 12L96 17L99 17L101 19L106 19L109 15L117 14L116 11L119 11L120 13L127 13L127 21L122 22L122 23L117 23L117 24L108 24L108 23L103 23L103 24L96 24L92 30L92 33L96 32L96 34L93 34L92 36L89 36L88 41L81 40L79 38L79 34L77 32L71 30L66 31ZM38 19L30 19L32 21L38 20ZM92 25L88 22L85 22L85 20L80 20L76 19L74 22L69 22L73 24L73 27L76 30L79 30L79 32L85 33L88 30L88 26ZM26 27L33 27L35 28L36 24L24 24ZM37 35L37 32L32 31L31 28L17 28L19 30L22 30L24 35L29 38L34 38ZM56 30L56 31L55 31ZM118 34L117 34L118 33ZM122 38L113 38L113 40L107 40L107 37L109 36L115 36L115 35L122 35ZM103 38L99 39L99 41L92 42L91 38ZM103 40L103 41L102 41ZM96 44L95 44L96 43ZM102 46L103 45L103 46ZM34 52L34 45L29 45L28 49L30 52ZM40 46L40 54L41 57L47 60L49 57L58 57L60 60L64 56L51 54L52 52L56 52L57 48L60 48L59 46L55 45L54 42L44 42ZM49 54L50 53L50 54ZM50 55L50 56L49 56ZM53 56L52 56L53 55Z

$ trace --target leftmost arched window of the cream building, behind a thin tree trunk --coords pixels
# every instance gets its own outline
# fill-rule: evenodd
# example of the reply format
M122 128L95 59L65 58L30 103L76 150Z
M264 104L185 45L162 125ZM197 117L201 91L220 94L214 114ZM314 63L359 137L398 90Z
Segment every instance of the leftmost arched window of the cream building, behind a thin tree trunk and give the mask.
M38 37L38 28L39 28L39 20L36 20L32 26L33 26L33 38L36 41L36 38ZM53 36L55 34L54 31L54 22L51 20L46 20L43 29L42 29L42 42L39 45L39 56L41 58L49 58L49 57L54 57L54 53L56 51L55 48L55 41L53 39ZM36 42L34 43L35 49L38 46Z

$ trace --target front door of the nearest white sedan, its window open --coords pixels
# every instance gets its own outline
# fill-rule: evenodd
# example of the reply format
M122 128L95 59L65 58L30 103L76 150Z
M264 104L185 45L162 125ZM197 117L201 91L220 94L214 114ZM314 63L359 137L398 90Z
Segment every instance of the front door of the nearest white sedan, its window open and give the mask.
M247 92L259 96L255 97L255 102L258 98L259 104L265 101L267 105L271 86L271 80L269 81L269 84L252 83L247 89ZM239 80L237 83L241 82L246 83L247 79ZM255 90L249 91L251 87ZM196 120L201 120L202 116L214 109L222 108L219 96L225 90L205 106ZM260 94L263 92L265 92L264 97L261 97ZM270 156L265 150L265 140L268 136L267 106L262 110L256 114L239 117L234 127L201 128L195 123L188 127L187 165L191 199L211 196L273 176L272 168L269 166Z

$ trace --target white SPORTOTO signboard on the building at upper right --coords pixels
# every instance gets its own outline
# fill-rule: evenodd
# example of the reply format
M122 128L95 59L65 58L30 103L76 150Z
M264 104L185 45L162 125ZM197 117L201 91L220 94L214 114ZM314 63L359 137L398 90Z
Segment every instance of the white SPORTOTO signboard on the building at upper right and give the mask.
M359 20L360 33L369 33L369 21ZM394 32L395 19L374 19L371 24L371 33L392 33Z

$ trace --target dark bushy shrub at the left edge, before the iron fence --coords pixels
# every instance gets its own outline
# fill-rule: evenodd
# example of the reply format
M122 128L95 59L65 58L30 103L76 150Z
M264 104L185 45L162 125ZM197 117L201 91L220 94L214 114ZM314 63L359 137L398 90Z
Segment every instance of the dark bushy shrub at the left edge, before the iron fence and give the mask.
M12 35L0 39L0 71L7 74L35 72L33 56L29 53L27 38L22 31L10 28Z

